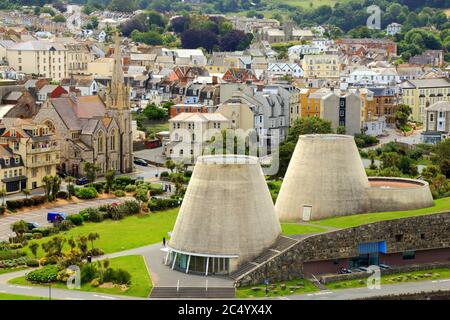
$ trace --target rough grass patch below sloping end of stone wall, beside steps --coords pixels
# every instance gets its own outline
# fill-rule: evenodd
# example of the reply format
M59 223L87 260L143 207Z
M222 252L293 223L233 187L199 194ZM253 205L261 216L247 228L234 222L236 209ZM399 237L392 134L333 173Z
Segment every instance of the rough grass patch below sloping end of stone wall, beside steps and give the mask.
M285 284L286 288L281 289L281 284ZM302 294L308 292L318 291L319 289L314 286L311 282L305 279L290 280L284 282L274 283L275 288L269 289L267 297L282 297L291 294ZM270 285L269 285L270 287ZM266 297L265 292L266 286L261 284L257 286L249 286L237 288L236 298L263 298Z

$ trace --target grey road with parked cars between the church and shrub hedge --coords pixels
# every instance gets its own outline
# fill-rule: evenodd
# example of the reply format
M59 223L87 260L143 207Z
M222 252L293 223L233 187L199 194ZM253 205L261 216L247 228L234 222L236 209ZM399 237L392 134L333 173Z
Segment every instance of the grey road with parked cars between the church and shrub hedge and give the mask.
M82 209L89 207L98 207L102 204L108 204L112 202L117 202L118 198L109 199L94 199L78 203L71 203L64 206L56 206L52 208L43 208L30 210L23 213L11 214L6 216L0 216L0 240L8 240L9 236L12 235L11 224L18 220L25 220L27 222L37 222L40 225L47 224L47 213L49 211L63 211L66 214L78 213Z

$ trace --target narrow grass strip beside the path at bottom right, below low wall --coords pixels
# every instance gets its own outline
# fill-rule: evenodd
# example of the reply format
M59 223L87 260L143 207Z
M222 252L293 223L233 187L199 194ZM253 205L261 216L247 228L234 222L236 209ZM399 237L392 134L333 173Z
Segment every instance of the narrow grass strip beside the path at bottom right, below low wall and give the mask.
M436 280L450 278L450 269L431 269L414 272L402 272L381 276L381 284L394 284L401 282ZM366 286L367 279L344 280L327 283L327 289L347 289Z

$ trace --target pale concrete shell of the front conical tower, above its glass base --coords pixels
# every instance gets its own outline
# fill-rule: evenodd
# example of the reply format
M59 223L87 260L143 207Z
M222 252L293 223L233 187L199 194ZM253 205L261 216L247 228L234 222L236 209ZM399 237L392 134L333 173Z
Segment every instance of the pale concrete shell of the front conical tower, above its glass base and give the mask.
M258 256L281 233L258 160L254 157L199 157L169 246L176 250Z

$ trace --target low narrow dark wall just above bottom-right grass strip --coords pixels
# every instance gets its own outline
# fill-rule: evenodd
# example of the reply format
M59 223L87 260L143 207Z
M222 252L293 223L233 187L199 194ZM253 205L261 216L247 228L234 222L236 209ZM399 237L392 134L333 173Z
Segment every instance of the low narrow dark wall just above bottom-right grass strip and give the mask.
M431 269L439 269L439 268L450 268L450 262L435 262L435 263L424 263L424 264L415 264L410 266L399 266L392 267L388 270L381 270L382 275L396 274L402 272L414 272L421 270L431 270ZM356 272L356 273L347 273L347 274L331 274L331 275L323 275L318 277L321 283L329 283L335 281L344 281L344 280L354 280L354 279L363 279L369 277L370 274L367 272Z

